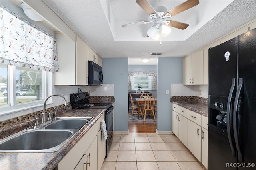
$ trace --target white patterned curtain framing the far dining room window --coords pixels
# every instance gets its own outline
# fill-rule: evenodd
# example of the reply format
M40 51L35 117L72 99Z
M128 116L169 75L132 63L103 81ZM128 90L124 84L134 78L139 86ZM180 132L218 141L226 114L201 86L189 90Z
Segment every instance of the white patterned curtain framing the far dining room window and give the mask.
M156 90L156 75L154 71L128 72L129 90L136 90L133 89L134 77L148 77L148 90Z

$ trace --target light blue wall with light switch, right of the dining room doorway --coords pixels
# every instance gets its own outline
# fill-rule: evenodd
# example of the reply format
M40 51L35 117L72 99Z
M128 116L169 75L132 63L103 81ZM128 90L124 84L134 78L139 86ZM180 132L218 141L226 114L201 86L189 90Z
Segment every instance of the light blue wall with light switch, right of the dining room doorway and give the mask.
M182 83L182 58L158 58L157 73L157 131L171 131L171 84Z

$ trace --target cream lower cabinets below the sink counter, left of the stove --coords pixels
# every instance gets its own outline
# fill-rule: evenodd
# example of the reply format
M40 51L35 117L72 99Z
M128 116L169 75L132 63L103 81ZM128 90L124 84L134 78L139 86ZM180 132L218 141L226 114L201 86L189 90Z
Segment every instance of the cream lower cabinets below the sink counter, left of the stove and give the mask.
M64 156L58 170L100 170L106 156L106 142L102 141L100 121L104 114Z

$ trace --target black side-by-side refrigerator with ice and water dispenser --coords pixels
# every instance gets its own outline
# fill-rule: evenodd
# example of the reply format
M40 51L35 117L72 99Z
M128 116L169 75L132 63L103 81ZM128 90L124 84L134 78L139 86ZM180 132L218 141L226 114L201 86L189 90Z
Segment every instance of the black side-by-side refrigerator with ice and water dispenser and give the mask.
M254 170L256 29L209 49L208 170Z

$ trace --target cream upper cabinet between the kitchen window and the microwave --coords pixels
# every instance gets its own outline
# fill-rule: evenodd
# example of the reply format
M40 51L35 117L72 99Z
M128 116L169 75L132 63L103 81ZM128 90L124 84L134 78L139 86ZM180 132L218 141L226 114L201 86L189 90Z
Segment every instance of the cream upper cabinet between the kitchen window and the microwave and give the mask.
M88 45L76 37L76 42L56 33L59 72L54 73L54 85L88 84Z

